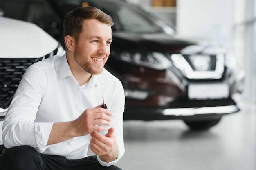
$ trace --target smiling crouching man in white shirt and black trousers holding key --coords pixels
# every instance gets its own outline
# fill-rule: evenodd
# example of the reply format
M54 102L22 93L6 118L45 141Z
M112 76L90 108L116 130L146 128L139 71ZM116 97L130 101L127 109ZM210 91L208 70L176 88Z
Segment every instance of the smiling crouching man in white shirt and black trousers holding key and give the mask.
M113 164L124 154L124 89L103 68L112 25L94 7L67 14L66 54L31 65L7 111L3 169L120 170ZM87 156L89 146L97 156Z

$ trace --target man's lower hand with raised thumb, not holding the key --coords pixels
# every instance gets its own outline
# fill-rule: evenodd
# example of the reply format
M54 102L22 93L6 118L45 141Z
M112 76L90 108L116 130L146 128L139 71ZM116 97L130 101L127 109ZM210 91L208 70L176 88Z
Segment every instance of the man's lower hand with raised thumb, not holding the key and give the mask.
M100 159L104 162L110 162L117 158L118 146L114 134L114 128L108 129L108 133L104 136L99 132L91 133L91 150L99 155Z

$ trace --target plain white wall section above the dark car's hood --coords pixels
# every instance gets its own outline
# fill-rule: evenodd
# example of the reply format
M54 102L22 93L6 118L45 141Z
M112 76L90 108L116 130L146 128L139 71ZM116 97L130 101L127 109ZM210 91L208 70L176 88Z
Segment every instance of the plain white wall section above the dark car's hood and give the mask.
M231 43L233 0L177 0L177 33Z

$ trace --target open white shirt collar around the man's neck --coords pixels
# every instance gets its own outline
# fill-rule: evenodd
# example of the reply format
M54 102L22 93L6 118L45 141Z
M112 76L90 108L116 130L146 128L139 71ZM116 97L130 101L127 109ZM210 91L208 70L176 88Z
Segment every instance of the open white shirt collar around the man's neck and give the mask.
M70 66L67 63L67 54L66 53L60 58L59 76L61 79L68 77L68 76L74 77L70 70ZM92 87L92 86L97 87L97 79L98 79L98 75L92 75L92 77L90 78L88 83L86 83L85 85L82 85L81 87Z

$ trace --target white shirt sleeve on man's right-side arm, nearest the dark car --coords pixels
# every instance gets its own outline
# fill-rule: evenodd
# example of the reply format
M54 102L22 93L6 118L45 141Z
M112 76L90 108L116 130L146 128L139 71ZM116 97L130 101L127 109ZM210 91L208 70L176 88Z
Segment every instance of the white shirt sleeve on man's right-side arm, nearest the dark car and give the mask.
M124 137L123 137L123 113L124 113L124 104L125 104L125 96L124 96L124 88L121 82L117 83L117 87L114 88L113 92L113 100L112 105L110 106L110 111L112 112L110 127L115 129L114 134L117 140L117 146L119 148L119 152L117 158L111 162L103 162L99 156L97 156L97 160L102 166L110 166L121 159L124 155ZM109 128L110 128L109 127ZM105 131L107 133L108 129ZM104 134L105 135L105 134Z

